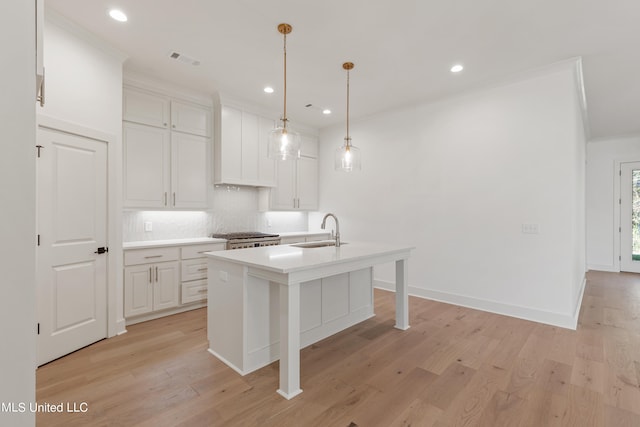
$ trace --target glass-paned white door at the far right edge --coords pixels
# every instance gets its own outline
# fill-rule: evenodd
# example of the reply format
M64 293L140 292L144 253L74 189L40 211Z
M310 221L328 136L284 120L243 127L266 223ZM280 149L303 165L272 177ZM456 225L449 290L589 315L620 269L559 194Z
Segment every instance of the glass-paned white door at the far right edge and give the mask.
M640 162L620 164L620 270L640 273Z

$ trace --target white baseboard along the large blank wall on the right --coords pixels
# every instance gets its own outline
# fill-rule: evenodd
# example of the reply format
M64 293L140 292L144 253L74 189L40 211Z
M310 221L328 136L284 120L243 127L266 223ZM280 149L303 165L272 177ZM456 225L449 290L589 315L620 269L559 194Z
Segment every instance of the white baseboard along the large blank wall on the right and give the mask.
M504 304L497 301L469 297L466 295L452 294L433 289L417 288L415 286L409 286L409 295L575 330L578 325L578 314L580 312L580 304L582 301L585 283L586 279L583 280L580 297L576 301L573 314L556 313L530 307ZM374 280L374 287L395 292L395 284L392 282Z

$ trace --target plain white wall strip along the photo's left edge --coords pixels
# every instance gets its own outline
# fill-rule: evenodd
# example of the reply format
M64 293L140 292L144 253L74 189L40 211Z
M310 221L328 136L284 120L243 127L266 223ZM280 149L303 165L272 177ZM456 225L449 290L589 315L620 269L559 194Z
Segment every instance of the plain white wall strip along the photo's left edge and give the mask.
M0 3L0 402L35 402L34 2ZM29 412L0 412L0 425L33 426Z

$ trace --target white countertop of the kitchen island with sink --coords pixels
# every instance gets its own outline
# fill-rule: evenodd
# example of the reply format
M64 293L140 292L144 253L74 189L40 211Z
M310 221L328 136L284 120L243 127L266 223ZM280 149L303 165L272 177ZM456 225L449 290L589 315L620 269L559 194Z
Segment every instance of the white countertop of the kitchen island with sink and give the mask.
M298 248L293 245L205 252L209 258L234 262L277 273L291 273L359 259L409 252L412 246L388 243L347 242L336 248Z

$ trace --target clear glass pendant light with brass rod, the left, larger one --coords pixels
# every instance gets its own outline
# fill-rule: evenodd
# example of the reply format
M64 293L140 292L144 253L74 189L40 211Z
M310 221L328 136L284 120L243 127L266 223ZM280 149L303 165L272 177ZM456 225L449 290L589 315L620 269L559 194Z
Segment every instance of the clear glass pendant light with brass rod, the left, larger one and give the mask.
M278 32L284 37L284 112L282 125L269 133L267 153L270 158L280 160L300 157L300 135L289 127L287 119L287 34L292 29L289 24L278 25Z

